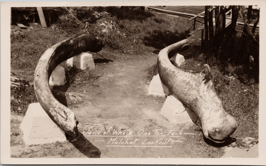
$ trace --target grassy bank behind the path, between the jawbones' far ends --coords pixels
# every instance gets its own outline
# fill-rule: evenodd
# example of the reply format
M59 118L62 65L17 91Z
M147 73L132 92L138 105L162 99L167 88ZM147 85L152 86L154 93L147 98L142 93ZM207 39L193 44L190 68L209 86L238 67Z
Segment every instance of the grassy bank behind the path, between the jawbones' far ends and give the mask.
M145 18L145 21L112 18L124 28L120 29L119 34L110 31L104 36L106 47L132 54L145 52L157 54L160 49L184 39L189 27L193 24L186 19L151 15L149 11L145 12L149 16Z

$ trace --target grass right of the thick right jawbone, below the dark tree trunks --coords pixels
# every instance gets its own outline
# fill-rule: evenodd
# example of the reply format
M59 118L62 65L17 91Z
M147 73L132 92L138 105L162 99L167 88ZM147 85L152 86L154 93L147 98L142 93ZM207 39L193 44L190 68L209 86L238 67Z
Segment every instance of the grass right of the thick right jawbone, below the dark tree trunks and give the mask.
M259 84L252 70L246 72L243 65L234 65L212 55L199 54L186 59L182 70L200 71L203 65L210 65L215 91L221 99L223 108L232 115L239 126L241 134L258 138L259 118ZM175 65L175 64L174 64ZM151 67L150 74L158 73L157 64Z

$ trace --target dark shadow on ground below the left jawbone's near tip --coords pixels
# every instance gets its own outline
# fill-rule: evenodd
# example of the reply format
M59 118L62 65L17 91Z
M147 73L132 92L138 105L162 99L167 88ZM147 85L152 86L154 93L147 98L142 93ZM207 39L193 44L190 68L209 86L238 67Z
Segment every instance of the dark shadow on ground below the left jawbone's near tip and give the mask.
M92 143L90 143L83 134L79 132L79 136L77 138L73 138L66 134L67 140L74 145L80 152L82 152L85 156L89 158L100 158L101 152L100 149L95 147Z

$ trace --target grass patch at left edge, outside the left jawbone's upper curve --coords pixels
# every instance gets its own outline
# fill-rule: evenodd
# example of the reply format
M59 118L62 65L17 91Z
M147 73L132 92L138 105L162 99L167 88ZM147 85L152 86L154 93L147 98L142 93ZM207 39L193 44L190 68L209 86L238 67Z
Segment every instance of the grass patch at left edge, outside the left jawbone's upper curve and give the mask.
M30 24L34 29L23 30L23 37L11 34L11 69L29 69L34 73L40 56L52 45L69 37L65 32L42 28L40 24ZM11 28L14 28L12 26Z

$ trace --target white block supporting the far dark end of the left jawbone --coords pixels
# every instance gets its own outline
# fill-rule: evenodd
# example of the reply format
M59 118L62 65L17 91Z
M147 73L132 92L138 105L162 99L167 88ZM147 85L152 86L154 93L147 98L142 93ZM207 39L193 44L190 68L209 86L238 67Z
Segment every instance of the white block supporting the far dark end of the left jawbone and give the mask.
M70 66L76 66L79 69L86 70L87 68L95 68L95 64L92 55L89 53L82 52L67 60L67 64Z

